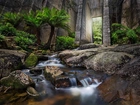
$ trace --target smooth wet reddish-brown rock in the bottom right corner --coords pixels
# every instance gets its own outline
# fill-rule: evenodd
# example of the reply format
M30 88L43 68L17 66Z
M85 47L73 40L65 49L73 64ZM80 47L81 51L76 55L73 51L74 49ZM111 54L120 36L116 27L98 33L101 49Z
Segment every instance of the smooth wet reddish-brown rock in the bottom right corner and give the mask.
M101 97L109 105L139 105L140 80L127 81L119 76L112 76L99 87Z

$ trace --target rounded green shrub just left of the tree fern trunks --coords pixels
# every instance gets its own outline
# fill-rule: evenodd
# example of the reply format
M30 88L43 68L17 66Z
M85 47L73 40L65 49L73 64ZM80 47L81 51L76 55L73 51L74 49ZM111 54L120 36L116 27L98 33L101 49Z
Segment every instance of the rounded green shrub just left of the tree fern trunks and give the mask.
M24 31L17 31L15 42L24 50L28 50L30 45L35 43L35 35L26 33Z

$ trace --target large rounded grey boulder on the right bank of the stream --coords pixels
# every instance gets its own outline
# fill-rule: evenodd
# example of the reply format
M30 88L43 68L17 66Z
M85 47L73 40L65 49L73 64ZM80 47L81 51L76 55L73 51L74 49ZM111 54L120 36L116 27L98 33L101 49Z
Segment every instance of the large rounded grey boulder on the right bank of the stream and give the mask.
M114 74L132 58L133 55L123 52L102 52L86 59L84 66L95 71L104 71L107 74Z

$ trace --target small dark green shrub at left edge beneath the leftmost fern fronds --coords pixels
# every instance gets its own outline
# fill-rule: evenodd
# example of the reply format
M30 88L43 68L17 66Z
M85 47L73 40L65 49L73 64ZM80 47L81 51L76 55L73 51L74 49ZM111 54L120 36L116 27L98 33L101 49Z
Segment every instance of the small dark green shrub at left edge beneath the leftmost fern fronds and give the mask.
M0 24L0 34L4 36L14 36L16 35L16 29L10 24Z

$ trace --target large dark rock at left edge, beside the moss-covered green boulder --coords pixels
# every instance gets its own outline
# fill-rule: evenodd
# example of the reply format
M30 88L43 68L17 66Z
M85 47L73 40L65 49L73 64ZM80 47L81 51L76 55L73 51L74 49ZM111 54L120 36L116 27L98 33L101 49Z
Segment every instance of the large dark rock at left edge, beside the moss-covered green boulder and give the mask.
M0 78L8 76L12 71L20 69L22 61L19 56L0 51Z

